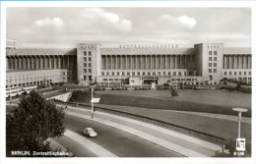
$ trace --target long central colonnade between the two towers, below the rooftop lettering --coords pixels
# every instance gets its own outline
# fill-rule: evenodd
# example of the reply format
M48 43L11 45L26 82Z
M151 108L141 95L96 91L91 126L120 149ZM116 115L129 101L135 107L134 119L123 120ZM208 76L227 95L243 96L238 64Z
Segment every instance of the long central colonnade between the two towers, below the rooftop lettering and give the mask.
M166 70L195 67L195 55L101 55L102 70Z

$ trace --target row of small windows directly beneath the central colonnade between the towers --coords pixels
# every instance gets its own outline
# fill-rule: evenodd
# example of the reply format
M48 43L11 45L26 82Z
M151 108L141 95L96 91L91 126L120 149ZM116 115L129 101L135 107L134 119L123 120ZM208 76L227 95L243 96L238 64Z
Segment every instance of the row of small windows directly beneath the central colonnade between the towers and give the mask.
M187 72L101 72L101 76L187 76ZM188 72L189 76L194 76L193 72Z

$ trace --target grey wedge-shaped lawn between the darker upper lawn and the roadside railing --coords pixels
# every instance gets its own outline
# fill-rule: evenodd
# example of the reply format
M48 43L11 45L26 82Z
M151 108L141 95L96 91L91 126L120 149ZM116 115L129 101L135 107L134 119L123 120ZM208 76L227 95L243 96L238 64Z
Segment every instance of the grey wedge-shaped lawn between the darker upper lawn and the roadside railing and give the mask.
M173 112L171 110L156 110L149 108L138 108L130 106L117 106L117 105L101 105L96 106L114 109L117 111L124 111L128 113L138 114L141 116L161 120L167 123L185 127L188 129L196 130L206 134L233 138L237 137L237 122L221 120L210 117L196 116L192 114ZM246 138L246 141L251 141L251 124L241 124L241 135Z

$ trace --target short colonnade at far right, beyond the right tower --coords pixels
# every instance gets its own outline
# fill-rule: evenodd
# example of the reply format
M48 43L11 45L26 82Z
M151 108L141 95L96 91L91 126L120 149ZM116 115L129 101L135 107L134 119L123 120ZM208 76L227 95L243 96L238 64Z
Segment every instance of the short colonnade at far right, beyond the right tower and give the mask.
M251 55L224 55L224 69L251 69Z

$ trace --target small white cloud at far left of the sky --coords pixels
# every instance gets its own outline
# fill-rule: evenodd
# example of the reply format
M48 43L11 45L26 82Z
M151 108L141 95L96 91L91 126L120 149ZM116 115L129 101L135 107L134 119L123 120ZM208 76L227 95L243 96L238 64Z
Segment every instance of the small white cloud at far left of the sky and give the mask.
M60 18L45 18L34 22L36 27L63 27L64 23Z

